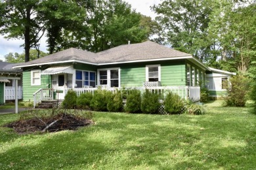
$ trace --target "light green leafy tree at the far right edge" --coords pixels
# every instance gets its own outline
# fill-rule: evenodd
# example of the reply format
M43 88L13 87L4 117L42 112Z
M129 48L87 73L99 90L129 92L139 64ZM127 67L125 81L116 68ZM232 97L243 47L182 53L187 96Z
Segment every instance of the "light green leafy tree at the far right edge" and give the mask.
M244 74L256 54L256 4L219 1L219 6L211 16L209 32L219 42L221 69L235 68Z

